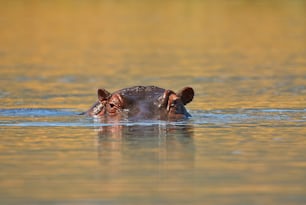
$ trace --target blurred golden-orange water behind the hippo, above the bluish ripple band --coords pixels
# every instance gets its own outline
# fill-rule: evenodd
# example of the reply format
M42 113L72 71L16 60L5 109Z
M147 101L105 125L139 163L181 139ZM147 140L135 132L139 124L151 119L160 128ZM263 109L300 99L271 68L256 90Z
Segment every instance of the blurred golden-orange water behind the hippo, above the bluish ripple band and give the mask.
M16 0L0 13L3 107L83 110L98 87L133 85L193 86L194 109L304 106L302 0Z

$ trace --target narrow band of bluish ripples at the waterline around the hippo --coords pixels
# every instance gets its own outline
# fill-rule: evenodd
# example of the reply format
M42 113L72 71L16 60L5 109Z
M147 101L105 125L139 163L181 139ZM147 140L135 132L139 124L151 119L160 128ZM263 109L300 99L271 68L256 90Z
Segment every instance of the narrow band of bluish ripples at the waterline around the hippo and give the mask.
M243 125L269 125L292 124L306 122L306 109L223 109L223 110L193 110L192 118L183 121L165 122L158 120L130 121L101 123L97 118L78 115L72 109L42 109L19 108L0 109L0 126L24 127L95 127L95 126L151 126L159 124L174 125L215 125L215 126L243 126Z

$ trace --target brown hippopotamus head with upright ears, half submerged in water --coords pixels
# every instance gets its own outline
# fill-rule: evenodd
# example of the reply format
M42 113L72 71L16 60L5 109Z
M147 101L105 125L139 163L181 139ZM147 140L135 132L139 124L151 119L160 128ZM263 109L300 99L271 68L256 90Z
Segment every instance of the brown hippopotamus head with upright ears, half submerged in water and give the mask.
M180 120L191 117L185 105L193 97L191 87L177 93L156 86L134 86L113 93L98 89L98 101L82 114L112 119Z

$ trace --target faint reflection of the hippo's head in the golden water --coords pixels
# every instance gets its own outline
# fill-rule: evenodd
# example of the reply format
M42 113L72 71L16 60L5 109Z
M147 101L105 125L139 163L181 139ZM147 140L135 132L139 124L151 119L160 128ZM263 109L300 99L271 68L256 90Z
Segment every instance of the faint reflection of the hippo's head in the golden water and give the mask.
M195 156L193 127L168 124L101 127L98 156L102 166L107 167L102 171L109 180L127 174L156 180L178 172L188 174L192 172Z

